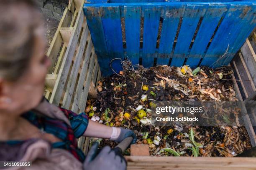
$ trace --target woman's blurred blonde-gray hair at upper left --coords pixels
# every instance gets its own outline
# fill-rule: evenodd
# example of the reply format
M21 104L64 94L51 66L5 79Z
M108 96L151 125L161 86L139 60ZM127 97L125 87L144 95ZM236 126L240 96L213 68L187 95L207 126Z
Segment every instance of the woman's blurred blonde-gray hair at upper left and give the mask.
M14 81L26 71L38 20L33 0L0 0L0 78Z

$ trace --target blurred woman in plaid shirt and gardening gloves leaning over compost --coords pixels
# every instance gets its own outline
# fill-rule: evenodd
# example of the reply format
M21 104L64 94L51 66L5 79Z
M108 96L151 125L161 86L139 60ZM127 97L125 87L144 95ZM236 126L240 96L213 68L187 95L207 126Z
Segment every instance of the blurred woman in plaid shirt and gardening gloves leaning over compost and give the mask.
M93 122L85 113L51 105L42 95L49 67L43 20L32 0L0 0L0 161L31 162L28 169L122 170L110 147L85 158L80 136L120 142L131 130ZM24 168L24 167L22 167Z

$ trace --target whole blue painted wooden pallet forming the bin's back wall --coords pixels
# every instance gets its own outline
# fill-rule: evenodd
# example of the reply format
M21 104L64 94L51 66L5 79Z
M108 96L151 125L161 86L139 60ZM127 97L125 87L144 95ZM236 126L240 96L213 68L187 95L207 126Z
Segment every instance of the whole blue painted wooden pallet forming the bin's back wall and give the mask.
M84 12L103 75L112 73L108 67L111 59L123 59L124 56L129 57L133 64L138 64L142 58L144 67L153 66L155 58L156 65L168 65L170 57L171 65L175 66L185 63L196 67L201 61L201 65L212 67L228 64L256 26L255 3L204 1L156 0L150 3L147 0L110 0L85 4ZM122 17L125 24L124 47ZM142 42L141 19L144 20ZM179 23L181 27L176 41ZM160 40L157 39L159 30ZM113 66L116 71L120 70L120 62Z

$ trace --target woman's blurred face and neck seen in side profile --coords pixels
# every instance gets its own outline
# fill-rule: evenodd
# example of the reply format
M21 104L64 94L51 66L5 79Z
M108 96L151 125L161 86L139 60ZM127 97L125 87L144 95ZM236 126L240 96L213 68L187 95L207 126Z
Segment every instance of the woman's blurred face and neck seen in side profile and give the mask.
M35 31L32 57L24 74L14 82L0 81L0 110L4 112L20 115L42 99L50 61L45 55L46 40L41 27Z

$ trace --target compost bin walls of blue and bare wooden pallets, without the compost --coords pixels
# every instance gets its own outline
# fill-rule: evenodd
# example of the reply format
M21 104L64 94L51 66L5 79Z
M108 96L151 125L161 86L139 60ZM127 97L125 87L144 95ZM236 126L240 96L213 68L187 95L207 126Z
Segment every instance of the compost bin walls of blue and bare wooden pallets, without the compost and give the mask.
M53 64L46 77L46 98L84 112L88 94L97 97L101 75L113 73L110 61L128 58L145 68L189 65L194 70L230 64L236 98L245 100L245 105L253 100L256 62L247 39L256 25L253 1L151 2L70 0L47 53ZM112 66L119 73L117 61ZM255 146L255 119L247 115L243 122ZM88 138L79 139L84 153L88 146ZM240 170L256 165L255 158L126 158L128 169Z

